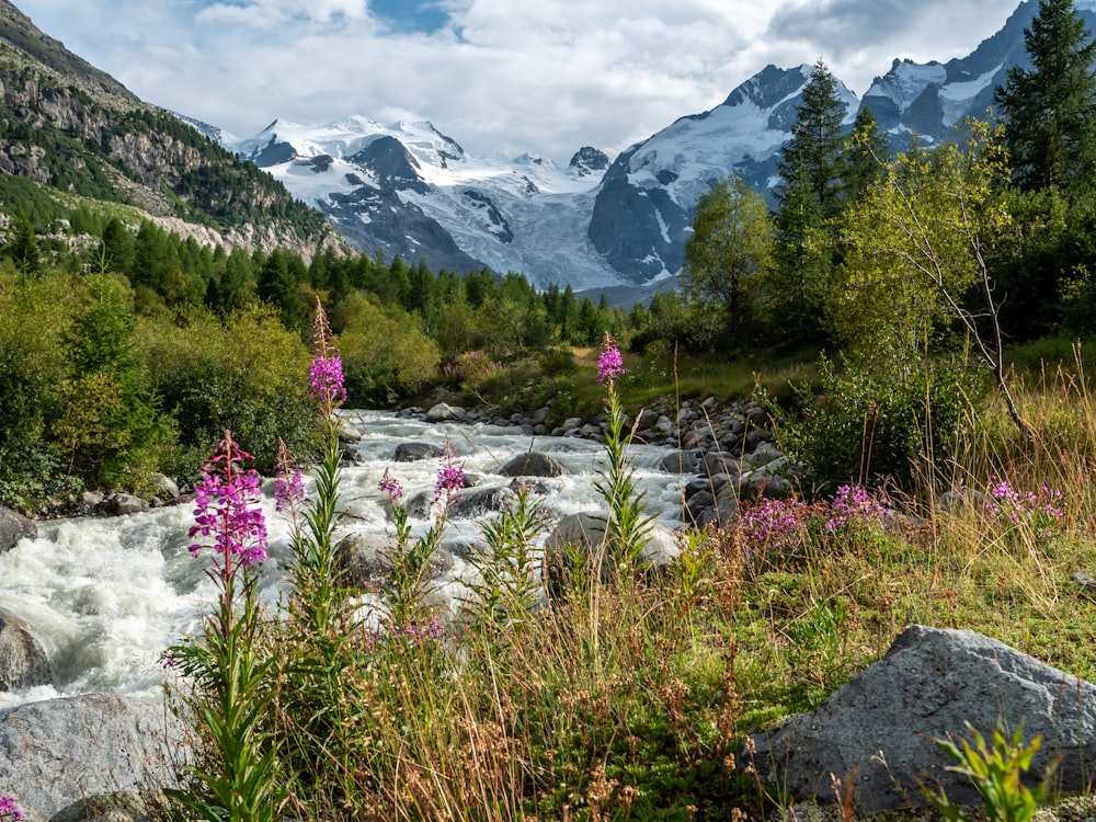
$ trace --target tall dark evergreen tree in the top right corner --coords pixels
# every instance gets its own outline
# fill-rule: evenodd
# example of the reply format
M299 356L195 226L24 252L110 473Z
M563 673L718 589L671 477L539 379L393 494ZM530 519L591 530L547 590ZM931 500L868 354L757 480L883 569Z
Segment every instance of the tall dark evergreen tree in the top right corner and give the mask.
M1073 0L1039 0L1024 46L1031 68L1008 69L994 94L1015 180L1083 194L1096 171L1096 44Z

